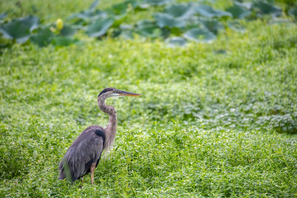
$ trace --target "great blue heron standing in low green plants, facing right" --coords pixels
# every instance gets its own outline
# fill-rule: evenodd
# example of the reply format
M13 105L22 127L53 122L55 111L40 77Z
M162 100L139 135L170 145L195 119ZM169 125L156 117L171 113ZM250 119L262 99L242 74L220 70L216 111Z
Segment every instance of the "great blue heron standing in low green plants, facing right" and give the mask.
M141 96L116 88L103 89L97 97L100 110L108 113L109 121L104 129L98 125L86 128L69 147L62 158L59 170L59 179L67 179L71 183L91 172L91 181L94 183L94 170L97 167L102 151L112 148L116 137L116 110L113 106L105 104L105 99L120 96ZM83 180L81 181L83 182Z

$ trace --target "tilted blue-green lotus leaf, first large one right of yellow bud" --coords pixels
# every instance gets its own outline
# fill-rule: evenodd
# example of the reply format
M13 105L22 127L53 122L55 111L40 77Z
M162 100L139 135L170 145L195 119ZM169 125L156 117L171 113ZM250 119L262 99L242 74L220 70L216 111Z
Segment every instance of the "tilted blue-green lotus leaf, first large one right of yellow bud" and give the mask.
M86 30L89 37L101 37L113 25L112 18L97 19Z

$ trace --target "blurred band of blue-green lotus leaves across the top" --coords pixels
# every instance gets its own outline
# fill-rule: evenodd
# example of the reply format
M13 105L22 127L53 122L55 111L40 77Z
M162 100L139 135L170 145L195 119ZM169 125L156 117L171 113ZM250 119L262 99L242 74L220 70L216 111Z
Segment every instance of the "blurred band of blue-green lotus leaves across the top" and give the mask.
M173 2L173 0L137 1L126 0L114 3L110 7L101 6L97 9L99 1L80 12L69 14L63 20L46 22L51 18L33 16L37 14L36 4L32 6L32 15L27 17L6 20L9 12L17 15L15 9L6 8L8 11L1 14L0 32L2 37L12 39L18 43L27 40L45 46L50 43L56 46L67 46L77 43L78 39L72 38L78 30L84 31L89 37L101 39L110 37L124 37L133 39L136 35L149 38L167 38L169 45L185 45L187 40L195 42L212 42L219 31L231 28L235 31L245 31L240 19L255 20L264 15L272 17L271 23L290 23L295 21L297 7L293 2L285 2L282 7L274 5L274 1L223 1L218 5L209 5L208 1L199 2ZM19 7L18 13L23 15L22 1L15 2ZM15 6L14 5L14 6ZM62 5L61 5L62 6ZM5 5L5 7L9 7ZM217 9L220 7L221 9ZM49 8L48 8L49 9ZM150 13L147 15L147 13ZM141 13L146 13L143 17ZM136 15L136 17L135 17ZM139 15L139 16L138 16ZM278 18L283 16L289 18ZM278 17L278 18L277 18ZM136 21L135 19L140 19ZM3 20L4 19L4 20ZM56 33L56 34L54 34Z

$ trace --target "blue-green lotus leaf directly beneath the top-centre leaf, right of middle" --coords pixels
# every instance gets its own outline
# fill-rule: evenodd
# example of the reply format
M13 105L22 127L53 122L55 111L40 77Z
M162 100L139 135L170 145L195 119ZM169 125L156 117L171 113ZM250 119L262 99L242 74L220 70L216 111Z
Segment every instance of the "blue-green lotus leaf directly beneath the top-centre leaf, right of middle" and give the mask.
M182 28L186 26L186 21L180 18L174 18L172 15L167 13L158 12L154 14L154 18L157 22L157 25L161 28Z

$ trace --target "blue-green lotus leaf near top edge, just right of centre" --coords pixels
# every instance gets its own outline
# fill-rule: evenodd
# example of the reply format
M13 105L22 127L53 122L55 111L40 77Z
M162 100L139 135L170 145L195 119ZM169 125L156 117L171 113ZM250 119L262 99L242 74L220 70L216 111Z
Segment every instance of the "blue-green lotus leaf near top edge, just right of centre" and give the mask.
M195 14L195 10L191 4L173 4L169 5L164 10L165 13L178 18L189 18Z

